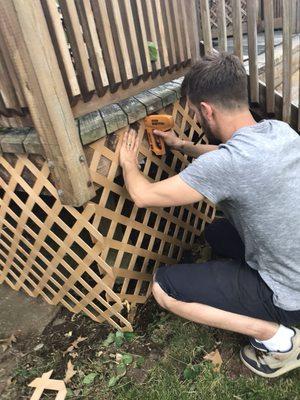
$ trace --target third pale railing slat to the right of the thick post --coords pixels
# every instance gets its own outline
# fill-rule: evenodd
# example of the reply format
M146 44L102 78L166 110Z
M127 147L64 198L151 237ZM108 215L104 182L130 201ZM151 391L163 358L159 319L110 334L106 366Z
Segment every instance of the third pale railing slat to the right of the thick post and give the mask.
M89 1L77 0L76 6L90 58L95 87L98 95L101 95L103 94L103 89L108 86L108 77L103 60L102 49L98 39L93 11Z

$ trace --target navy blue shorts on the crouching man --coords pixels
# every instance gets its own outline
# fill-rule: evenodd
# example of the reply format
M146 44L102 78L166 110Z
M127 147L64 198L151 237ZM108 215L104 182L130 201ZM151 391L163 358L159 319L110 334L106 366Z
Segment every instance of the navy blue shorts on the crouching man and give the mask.
M155 281L169 296L286 326L300 322L300 310L274 305L272 290L245 263L244 244L227 220L207 225L205 238L213 253L226 259L159 268Z

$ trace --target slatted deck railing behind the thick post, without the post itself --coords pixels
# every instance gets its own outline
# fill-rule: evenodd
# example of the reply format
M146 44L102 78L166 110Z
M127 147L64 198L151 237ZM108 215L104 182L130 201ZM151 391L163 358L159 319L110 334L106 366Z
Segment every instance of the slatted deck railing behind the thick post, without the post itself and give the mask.
M42 6L35 23L47 24L74 117L179 77L199 56L194 2L30 2ZM3 44L0 114L19 118L2 123L26 126L28 104L6 50Z

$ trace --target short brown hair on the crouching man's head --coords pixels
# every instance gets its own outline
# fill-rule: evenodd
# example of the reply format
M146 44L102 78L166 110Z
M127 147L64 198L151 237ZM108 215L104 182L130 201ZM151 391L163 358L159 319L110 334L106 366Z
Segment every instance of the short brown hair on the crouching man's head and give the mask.
M248 105L245 68L238 57L228 53L202 57L184 77L181 91L195 106L202 101L228 109Z

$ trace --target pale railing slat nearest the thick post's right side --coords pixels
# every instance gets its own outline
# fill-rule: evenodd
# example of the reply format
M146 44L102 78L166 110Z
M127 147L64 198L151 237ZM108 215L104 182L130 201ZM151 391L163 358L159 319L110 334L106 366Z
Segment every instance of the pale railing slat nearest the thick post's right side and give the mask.
M66 35L62 26L61 17L58 12L57 4L53 0L44 0L42 1L42 6L44 9L48 29L51 34L51 40L58 59L65 87L67 89L69 97L71 99L76 98L80 96L80 88L66 41Z

